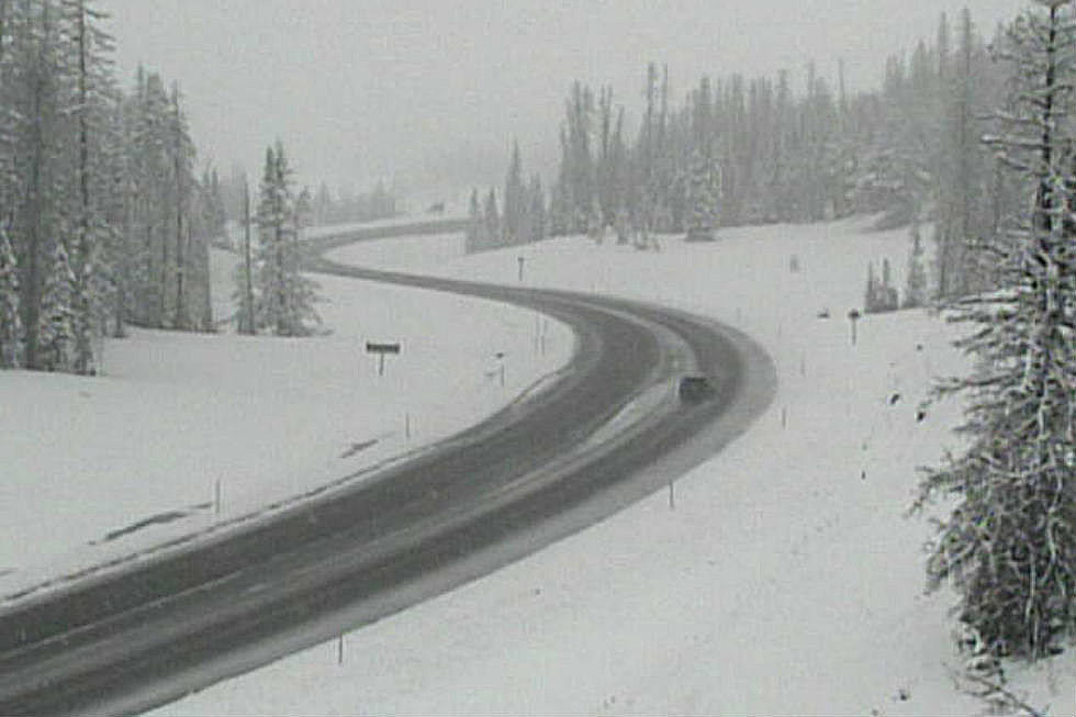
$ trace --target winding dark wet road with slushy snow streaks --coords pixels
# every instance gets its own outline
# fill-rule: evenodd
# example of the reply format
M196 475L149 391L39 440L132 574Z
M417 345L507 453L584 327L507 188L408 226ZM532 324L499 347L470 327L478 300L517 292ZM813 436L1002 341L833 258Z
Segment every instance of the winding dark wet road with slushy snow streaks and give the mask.
M456 228L444 224L406 233ZM320 258L400 232L320 238L309 268L553 316L576 334L568 369L347 492L8 607L0 714L138 712L354 629L652 492L742 433L773 395L764 351L704 318ZM713 400L680 403L675 383L688 372L713 377Z

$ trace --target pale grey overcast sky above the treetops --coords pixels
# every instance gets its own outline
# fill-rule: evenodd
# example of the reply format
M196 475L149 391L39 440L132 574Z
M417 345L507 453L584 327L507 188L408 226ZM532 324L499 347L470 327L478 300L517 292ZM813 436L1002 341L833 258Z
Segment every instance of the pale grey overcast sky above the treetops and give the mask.
M525 169L549 169L574 78L612 82L635 116L649 60L677 98L704 72L799 78L811 58L873 86L965 4L989 33L1025 2L100 0L121 76L143 63L179 81L202 159L257 176L279 137L303 181L405 192L498 181L514 136Z

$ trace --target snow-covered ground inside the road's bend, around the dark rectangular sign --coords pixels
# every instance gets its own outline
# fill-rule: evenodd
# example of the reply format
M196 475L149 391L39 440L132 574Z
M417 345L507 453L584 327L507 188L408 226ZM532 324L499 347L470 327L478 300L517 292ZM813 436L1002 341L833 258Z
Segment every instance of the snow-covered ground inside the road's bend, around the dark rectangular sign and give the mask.
M233 262L213 255L218 317L232 312ZM547 321L547 351L536 355L533 312L317 280L324 336L133 329L105 343L93 379L0 372L0 606L361 480L492 414L573 349L569 329ZM367 340L402 344L383 377Z

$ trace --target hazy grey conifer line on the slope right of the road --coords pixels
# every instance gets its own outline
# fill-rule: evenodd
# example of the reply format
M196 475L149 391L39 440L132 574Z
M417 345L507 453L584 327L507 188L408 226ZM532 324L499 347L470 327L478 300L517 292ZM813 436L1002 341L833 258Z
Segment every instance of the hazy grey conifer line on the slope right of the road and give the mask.
M997 38L995 38L997 40ZM812 222L885 212L933 226L932 293L993 281L967 249L1000 231L1020 201L979 137L1005 101L1005 70L969 11L942 14L932 42L886 58L882 86L850 92L809 63L793 74L699 78L682 101L668 67L651 63L634 138L613 90L572 83L551 188L553 234L618 221L636 229L698 233L718 226ZM708 226L707 226L708 225Z

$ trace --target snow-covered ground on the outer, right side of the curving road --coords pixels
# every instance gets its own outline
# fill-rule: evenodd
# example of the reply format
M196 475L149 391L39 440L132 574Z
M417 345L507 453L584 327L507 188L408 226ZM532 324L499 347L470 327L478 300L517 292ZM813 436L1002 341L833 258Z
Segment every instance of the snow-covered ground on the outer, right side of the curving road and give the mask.
M423 247L430 239L418 239ZM452 593L158 712L192 714L969 715L946 615L922 594L931 531L907 519L916 468L955 447L953 404L918 410L960 371L953 327L923 311L868 316L868 261L903 231L862 221L724 232L660 254L584 239L434 260L407 242L336 256L423 271L642 298L748 331L781 385L741 439L629 509ZM453 244L455 243L455 244ZM390 253L391 254L391 253ZM456 256L456 259L451 257ZM792 257L800 270L789 270ZM819 314L828 311L830 318ZM1052 715L1076 714L1076 660L1010 670Z

